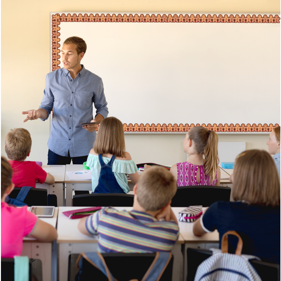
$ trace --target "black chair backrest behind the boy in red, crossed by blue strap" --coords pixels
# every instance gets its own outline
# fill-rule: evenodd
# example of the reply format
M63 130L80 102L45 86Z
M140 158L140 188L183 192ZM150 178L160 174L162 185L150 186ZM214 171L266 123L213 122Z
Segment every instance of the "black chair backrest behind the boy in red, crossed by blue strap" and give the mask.
M15 187L9 195L10 198L17 198L20 190L21 187ZM48 206L47 189L32 188L31 190L29 190L23 202L28 206Z

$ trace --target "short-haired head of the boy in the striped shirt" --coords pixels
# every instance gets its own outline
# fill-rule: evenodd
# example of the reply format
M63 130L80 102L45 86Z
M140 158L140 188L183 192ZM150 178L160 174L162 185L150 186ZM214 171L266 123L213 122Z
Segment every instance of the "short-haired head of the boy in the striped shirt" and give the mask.
M136 196L145 211L158 211L164 208L177 191L175 177L162 167L151 167L139 178Z

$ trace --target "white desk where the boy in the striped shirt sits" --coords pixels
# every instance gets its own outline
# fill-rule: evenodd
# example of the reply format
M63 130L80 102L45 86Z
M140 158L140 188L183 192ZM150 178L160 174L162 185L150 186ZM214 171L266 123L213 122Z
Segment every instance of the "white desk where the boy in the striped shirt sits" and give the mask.
M57 222L57 243L59 245L59 280L67 280L68 257L70 254L80 254L82 252L96 252L98 239L96 236L87 236L79 232L77 225L80 219L68 219L62 212L82 209L87 207L59 207ZM132 210L132 207L116 207L117 210ZM180 279L182 271L181 245L184 239L180 235L172 250L174 255L173 281Z

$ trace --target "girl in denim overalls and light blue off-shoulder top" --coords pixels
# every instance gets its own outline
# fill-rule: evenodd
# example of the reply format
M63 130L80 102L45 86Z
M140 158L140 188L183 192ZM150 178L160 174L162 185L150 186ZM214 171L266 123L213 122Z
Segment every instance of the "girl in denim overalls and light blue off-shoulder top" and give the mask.
M128 193L129 175L133 184L139 179L137 166L125 152L123 125L115 117L103 119L87 159L92 174L92 193Z

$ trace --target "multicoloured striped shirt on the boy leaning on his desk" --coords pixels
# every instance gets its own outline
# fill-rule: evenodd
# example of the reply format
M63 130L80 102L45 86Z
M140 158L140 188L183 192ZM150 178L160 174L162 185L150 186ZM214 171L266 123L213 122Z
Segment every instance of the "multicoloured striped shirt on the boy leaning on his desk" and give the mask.
M140 211L103 208L86 220L91 234L99 234L101 253L154 253L171 251L179 236L174 221L158 221Z

